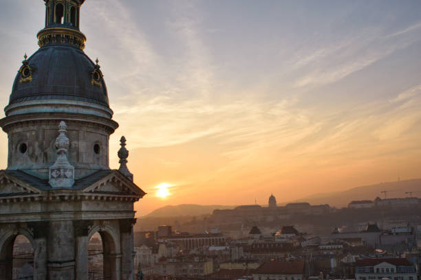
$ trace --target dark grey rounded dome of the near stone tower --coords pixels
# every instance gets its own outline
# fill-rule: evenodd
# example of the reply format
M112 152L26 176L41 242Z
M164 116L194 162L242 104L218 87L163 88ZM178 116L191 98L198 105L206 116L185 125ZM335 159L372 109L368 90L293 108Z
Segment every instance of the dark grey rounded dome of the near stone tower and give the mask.
M80 49L66 45L41 47L28 58L32 78L14 79L9 105L31 100L72 100L109 108L107 87L95 65ZM24 62L25 64L25 62Z

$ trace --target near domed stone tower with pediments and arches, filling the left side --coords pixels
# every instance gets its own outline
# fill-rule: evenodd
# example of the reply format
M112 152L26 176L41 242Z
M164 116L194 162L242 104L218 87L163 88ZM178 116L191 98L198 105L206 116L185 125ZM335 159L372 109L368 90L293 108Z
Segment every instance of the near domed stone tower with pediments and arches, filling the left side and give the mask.
M85 0L44 0L39 50L26 55L6 117L8 167L0 171L0 280L12 279L17 235L34 248L34 279L88 279L89 238L99 233L104 278L133 279L133 203L144 191L127 169L109 168L112 120L98 65L83 52Z

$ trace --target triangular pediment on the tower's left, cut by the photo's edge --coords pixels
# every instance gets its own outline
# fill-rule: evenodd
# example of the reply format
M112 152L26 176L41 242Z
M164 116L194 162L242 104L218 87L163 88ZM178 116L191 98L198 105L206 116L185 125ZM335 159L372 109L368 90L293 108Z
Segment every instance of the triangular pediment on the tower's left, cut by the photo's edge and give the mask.
M0 172L0 196L39 194L41 191L4 171Z

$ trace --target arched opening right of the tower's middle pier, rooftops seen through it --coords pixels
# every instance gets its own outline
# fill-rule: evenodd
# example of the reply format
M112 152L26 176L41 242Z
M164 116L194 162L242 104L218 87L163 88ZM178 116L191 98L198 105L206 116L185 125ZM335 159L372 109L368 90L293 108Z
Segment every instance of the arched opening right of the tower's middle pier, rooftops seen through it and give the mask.
M94 233L88 243L88 279L104 278L104 249L100 233Z

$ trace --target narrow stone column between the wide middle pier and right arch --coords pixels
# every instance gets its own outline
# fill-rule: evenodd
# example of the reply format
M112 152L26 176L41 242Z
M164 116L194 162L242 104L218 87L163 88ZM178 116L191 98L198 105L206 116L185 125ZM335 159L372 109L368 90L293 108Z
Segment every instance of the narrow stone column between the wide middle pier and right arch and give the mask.
M76 243L76 279L88 279L88 233L89 226L94 223L89 220L75 220L73 221L74 238Z

